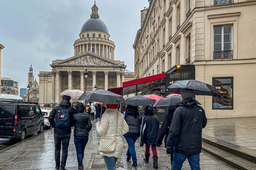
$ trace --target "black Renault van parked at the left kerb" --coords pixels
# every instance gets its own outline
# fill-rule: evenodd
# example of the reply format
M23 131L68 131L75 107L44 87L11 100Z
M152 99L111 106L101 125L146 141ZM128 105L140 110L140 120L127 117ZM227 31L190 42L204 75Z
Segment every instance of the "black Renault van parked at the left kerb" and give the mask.
M0 100L0 138L20 139L42 133L44 116L37 101Z

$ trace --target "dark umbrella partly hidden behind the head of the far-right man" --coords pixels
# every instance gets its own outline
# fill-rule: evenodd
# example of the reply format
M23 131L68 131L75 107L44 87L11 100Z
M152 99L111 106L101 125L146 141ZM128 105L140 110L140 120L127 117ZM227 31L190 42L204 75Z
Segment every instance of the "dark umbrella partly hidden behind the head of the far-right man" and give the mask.
M159 99L156 101L153 107L160 107L160 106L177 106L177 104L180 102L181 96L174 95L171 97L166 97L164 99ZM201 105L197 100L195 100L198 105Z

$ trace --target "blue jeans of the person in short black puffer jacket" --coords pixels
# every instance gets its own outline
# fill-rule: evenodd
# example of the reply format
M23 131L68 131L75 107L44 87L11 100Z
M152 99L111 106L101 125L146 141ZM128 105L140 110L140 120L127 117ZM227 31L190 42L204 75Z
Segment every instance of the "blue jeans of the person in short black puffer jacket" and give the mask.
M74 143L77 150L78 166L83 165L84 148L88 142L88 136L74 136Z

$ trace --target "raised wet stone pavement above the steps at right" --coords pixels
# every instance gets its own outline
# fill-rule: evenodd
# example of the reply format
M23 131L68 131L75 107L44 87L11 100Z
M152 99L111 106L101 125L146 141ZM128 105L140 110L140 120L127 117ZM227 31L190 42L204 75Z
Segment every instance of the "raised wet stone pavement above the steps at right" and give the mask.
M256 150L256 117L208 119L202 133Z

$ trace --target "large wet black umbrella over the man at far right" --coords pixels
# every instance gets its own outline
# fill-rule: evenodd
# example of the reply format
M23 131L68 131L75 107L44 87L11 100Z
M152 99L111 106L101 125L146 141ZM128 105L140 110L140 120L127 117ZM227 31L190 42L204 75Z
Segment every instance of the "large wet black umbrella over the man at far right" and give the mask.
M176 81L167 89L170 92L180 94L181 90L185 88L194 90L195 95L209 95L209 96L220 95L220 92L216 89L215 86L212 86L210 84L197 81L197 80Z

